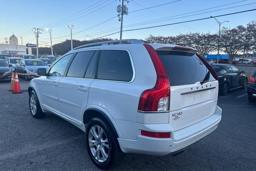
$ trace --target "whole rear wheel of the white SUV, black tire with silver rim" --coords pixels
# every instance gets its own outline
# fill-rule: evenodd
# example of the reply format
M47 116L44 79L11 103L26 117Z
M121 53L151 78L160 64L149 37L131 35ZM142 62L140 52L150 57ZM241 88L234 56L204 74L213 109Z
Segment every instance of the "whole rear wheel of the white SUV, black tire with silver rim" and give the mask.
M86 148L93 163L103 170L118 165L124 156L111 127L100 118L93 118L86 127Z

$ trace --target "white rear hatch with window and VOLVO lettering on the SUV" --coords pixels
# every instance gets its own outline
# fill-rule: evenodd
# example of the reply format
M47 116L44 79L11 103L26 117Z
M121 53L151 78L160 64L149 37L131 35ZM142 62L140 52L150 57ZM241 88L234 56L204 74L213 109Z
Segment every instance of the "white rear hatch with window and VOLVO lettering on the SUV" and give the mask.
M215 112L218 81L196 56L195 49L174 47L155 47L155 50L170 79L169 123L177 131Z

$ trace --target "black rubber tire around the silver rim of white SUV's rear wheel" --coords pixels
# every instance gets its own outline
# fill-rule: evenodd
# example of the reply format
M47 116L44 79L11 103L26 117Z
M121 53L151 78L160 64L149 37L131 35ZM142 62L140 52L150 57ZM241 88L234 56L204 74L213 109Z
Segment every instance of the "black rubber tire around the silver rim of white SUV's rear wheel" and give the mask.
M103 131L104 131L103 133L105 133L105 135L106 135L105 138L108 141L108 149L106 149L106 147L104 147L104 146L102 147L103 143L100 143L100 141L101 141L100 137L98 138L98 140L95 139L94 143L92 143L92 141L91 141L92 139L90 138L90 143L91 143L91 145L93 145L92 150L90 149L89 136L91 137L91 135L92 135L92 133L90 133L90 129L94 126L95 127L99 126L100 129L103 129ZM98 130L98 129L95 129L95 131L96 130ZM96 133L97 133L97 131L96 131ZM102 135L102 137L103 137L103 135ZM103 148L104 151L108 152L108 156L106 157L105 161L98 161L96 159L96 157L94 157L94 155L92 154L92 151L97 150L98 147L99 147L99 151L100 151L100 154L102 156L102 159L104 159L104 158L103 158L101 149ZM124 153L121 151L121 149L119 147L119 143L118 143L116 135L114 134L114 131L104 121L104 119L100 119L98 117L92 118L89 121L89 123L87 124L87 127L86 127L86 148L87 148L88 154L89 154L91 160L93 161L93 163L102 170L108 170L108 169L111 169L111 168L119 165L121 163L123 157L124 157ZM97 153L97 152L95 152L95 153ZM99 159L100 159L100 155L99 155Z

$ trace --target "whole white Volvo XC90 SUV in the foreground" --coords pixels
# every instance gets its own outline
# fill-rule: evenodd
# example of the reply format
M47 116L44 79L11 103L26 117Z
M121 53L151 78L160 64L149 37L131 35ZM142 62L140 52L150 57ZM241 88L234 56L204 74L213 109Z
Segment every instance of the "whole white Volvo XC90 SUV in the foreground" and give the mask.
M115 40L74 48L28 88L33 117L54 113L86 132L90 158L176 154L217 128L218 76L197 50Z

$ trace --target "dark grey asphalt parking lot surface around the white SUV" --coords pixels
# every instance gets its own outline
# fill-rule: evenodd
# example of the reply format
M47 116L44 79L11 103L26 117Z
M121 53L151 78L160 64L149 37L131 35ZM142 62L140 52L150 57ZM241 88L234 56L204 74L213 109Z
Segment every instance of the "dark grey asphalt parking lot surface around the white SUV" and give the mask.
M21 89L29 82L20 78ZM34 119L28 93L0 82L0 170L98 170L84 132L54 114ZM256 103L246 90L219 97L222 121L210 135L176 156L126 154L116 170L256 170Z

